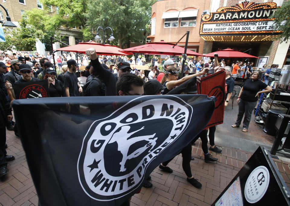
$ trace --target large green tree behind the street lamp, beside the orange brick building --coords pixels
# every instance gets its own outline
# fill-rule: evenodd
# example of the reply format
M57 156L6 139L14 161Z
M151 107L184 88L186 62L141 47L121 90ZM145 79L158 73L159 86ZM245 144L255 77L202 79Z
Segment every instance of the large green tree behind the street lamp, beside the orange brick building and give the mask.
M130 47L131 42L146 39L146 24L151 19L151 5L153 0L91 0L86 12L87 25L94 31L98 26L111 27L118 44L124 48ZM106 31L107 38L109 31ZM99 30L99 36L103 32ZM119 42L118 42L119 40Z

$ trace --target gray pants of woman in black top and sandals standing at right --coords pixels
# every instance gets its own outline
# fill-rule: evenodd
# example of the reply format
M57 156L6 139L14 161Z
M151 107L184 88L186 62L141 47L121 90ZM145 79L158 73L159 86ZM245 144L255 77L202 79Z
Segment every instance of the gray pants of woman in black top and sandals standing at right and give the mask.
M248 129L250 121L251 121L251 117L252 117L252 112L256 104L257 104L257 101L245 101L245 100L240 99L239 113L238 113L238 118L235 125L240 126L243 119L243 115L245 114L245 118L243 121L243 128Z

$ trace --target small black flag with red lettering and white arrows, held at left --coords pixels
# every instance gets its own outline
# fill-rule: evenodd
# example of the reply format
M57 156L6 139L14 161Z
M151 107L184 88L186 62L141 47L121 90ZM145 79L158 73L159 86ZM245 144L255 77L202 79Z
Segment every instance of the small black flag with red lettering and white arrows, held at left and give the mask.
M16 99L49 97L47 80L14 83L12 86Z

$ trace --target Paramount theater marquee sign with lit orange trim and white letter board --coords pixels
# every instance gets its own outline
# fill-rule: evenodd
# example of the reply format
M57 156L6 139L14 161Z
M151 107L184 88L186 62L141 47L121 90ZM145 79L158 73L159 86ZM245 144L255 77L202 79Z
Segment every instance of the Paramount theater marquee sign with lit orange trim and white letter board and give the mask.
M245 34L248 36L258 34L263 37L259 40L270 40L270 36L282 32L275 30L274 21L270 18L277 8L274 2L256 4L247 1L234 6L221 7L217 12L202 15L199 34L208 36L208 38L201 37L204 40L214 41L213 36L221 37L221 40L224 40L223 36L243 36ZM233 38L231 40L233 41Z

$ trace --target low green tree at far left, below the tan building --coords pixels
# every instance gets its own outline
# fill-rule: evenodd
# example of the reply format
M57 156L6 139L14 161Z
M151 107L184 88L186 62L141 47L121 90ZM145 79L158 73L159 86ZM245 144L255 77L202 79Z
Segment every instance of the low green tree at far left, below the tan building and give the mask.
M26 16L19 20L19 27L13 29L3 27L3 29L6 42L0 42L2 51L11 50L14 46L18 51L35 50L36 39L42 37L41 30L29 25Z

